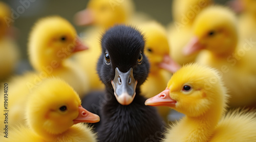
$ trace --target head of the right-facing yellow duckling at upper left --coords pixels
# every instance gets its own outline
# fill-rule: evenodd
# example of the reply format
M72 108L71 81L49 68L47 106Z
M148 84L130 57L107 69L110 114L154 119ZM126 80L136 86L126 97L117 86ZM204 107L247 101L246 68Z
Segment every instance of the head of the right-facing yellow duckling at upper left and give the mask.
M58 16L36 22L28 43L30 62L39 71L52 65L60 67L72 53L86 49L71 23Z

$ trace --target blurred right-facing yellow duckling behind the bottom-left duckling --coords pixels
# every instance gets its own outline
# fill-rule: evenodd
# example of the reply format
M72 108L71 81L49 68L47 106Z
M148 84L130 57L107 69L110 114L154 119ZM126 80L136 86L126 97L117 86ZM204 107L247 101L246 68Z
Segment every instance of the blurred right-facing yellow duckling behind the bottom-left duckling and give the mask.
M24 109L27 94L37 88L44 78L62 78L82 97L89 90L86 76L79 67L67 59L73 52L87 49L77 39L74 27L61 17L48 17L39 20L29 38L29 60L36 70L7 81L9 87L8 109L12 112L9 122L12 125L24 122ZM1 89L4 92L3 89ZM0 98L4 105L4 97ZM0 107L3 110L4 107ZM2 120L2 117L1 119ZM1 127L2 124L0 124Z

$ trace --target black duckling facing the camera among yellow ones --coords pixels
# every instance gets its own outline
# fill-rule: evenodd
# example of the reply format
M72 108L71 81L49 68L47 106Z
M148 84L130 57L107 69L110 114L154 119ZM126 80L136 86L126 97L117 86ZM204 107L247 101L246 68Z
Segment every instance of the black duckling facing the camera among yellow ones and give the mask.
M96 129L99 141L160 141L163 121L140 94L150 68L143 35L131 26L114 26L102 36L101 47L97 72L108 97Z

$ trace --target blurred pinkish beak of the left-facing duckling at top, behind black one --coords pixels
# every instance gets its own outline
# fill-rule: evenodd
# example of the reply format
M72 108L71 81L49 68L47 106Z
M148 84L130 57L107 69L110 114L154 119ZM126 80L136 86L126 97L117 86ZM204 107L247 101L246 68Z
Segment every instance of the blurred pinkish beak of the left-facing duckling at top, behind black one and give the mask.
M75 15L75 23L80 26L93 24L94 21L93 11L90 9L79 11Z

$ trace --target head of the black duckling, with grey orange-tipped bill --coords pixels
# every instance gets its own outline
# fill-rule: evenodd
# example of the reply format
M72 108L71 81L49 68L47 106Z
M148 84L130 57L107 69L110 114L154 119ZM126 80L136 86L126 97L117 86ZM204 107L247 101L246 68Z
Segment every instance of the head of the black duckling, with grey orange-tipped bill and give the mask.
M122 105L132 103L149 72L144 37L131 26L114 26L101 38L102 53L97 72L106 89L114 90Z

